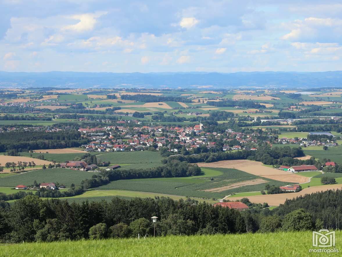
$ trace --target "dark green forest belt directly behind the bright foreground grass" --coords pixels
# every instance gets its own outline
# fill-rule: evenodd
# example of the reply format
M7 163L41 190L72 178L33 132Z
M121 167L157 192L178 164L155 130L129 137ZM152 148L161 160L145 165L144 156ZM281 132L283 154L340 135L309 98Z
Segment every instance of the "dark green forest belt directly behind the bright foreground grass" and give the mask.
M341 229L340 197L340 191L305 195L287 200L272 211L265 208L266 203L251 204L247 198L242 198L240 201L250 208L239 212L194 200L174 201L165 197L132 200L115 197L110 202L84 201L70 205L67 201L27 195L11 206L0 200L0 242L151 235L152 216L159 217L157 236ZM324 201L329 199L330 202Z

